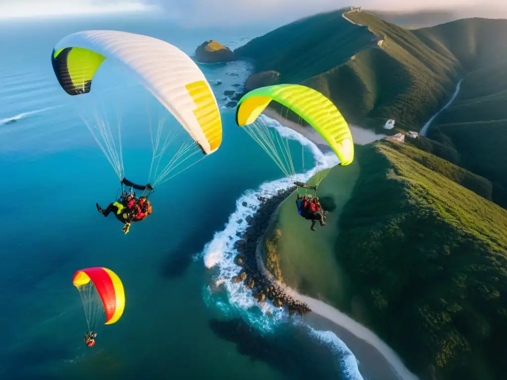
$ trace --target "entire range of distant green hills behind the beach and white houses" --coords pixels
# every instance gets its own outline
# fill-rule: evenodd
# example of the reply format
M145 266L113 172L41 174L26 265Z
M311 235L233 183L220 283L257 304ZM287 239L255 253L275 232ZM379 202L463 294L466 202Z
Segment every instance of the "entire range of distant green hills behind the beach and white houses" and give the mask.
M507 208L507 20L409 30L364 11L342 12L285 25L235 53L255 61L257 71L280 72L280 82L320 91L349 123L377 132L391 118L398 128L419 131L463 79L429 129L436 141L418 143L432 149L419 147L485 177L493 201ZM291 112L287 118L300 122Z

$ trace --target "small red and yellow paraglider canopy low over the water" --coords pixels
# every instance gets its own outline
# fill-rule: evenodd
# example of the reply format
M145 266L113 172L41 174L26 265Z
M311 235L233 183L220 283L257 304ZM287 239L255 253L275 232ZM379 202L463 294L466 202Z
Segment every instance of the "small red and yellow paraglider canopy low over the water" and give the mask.
M105 312L104 324L110 325L120 319L125 309L125 291L116 273L101 267L81 269L74 274L72 282L80 292L90 282L95 286Z

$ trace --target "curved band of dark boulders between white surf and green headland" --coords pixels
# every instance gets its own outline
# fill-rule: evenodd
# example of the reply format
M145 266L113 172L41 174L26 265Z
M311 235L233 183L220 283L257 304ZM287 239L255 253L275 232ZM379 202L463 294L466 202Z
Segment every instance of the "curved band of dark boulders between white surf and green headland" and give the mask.
M266 270L262 258L263 237L270 224L271 217L278 206L296 189L296 186L279 190L270 198L259 196L261 202L259 209L253 216L248 216L248 227L241 240L235 243L239 252L234 259L236 265L241 267L239 274L231 280L235 283L242 282L247 289L251 289L252 295L259 302L271 301L274 306L287 308L289 315L304 315L310 312L306 303L295 300L285 292L285 286L279 284L273 275Z

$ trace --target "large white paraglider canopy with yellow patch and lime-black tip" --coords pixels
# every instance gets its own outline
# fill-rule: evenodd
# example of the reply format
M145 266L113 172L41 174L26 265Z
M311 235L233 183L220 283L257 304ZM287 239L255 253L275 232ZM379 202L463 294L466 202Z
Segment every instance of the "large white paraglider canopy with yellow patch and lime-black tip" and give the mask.
M222 121L209 83L197 64L175 46L146 35L87 30L64 37L53 49L53 69L70 95L91 91L104 59L125 68L195 140L204 154L222 142Z

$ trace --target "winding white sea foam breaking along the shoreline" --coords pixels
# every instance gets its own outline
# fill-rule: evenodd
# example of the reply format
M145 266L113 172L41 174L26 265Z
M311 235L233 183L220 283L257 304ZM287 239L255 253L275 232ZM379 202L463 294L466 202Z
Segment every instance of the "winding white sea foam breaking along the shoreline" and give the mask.
M223 231L215 233L213 239L204 247L204 263L207 268L214 268L218 273L215 277L215 286L223 286L227 291L228 302L223 299L214 299L210 296L210 287L206 288L207 294L204 295L206 302L219 308L224 314L232 313L240 314L247 319L251 325L262 330L263 332L272 332L276 325L288 321L288 313L283 309L275 308L271 303L266 302L260 305L251 295L251 291L247 290L243 284L236 284L232 281L224 281L224 278L231 278L238 273L238 267L234 263L234 257L237 250L234 244L241 239L246 231L248 223L246 218L253 216L259 206L258 197L272 197L277 194L280 189L292 186L294 180L306 181L317 171L330 168L339 163L335 154L323 154L317 146L310 140L298 132L282 126L275 120L264 115L260 118L262 122L275 128L278 132L286 136L288 139L296 140L305 147L309 148L315 158L315 167L296 176L296 178L282 178L276 181L263 183L257 190L249 190L236 201L236 210L229 217ZM227 277L226 277L227 276ZM229 305L227 305L227 303ZM232 309L232 310L231 310ZM303 323L301 318L294 318L293 321ZM348 347L340 340L340 338L331 331L317 331L310 327L310 335L317 338L322 343L329 345L333 352L339 356L342 372L351 379L362 379L357 368L357 360L348 349Z

